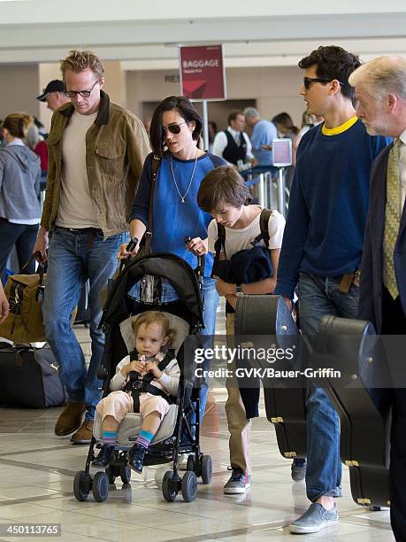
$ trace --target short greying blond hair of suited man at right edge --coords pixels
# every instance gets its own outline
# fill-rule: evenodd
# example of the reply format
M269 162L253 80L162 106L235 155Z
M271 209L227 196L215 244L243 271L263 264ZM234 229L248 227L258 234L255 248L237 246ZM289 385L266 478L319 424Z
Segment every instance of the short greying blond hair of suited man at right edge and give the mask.
M356 87L363 83L379 98L395 94L406 101L406 59L402 57L378 57L362 66L349 76L349 84Z

